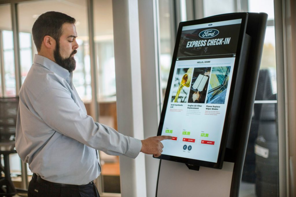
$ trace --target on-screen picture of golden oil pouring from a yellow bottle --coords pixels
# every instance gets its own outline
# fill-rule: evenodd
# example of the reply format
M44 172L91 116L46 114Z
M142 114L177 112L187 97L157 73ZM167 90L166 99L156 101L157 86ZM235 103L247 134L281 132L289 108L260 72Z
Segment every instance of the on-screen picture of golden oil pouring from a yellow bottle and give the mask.
M193 68L177 69L171 102L187 102Z

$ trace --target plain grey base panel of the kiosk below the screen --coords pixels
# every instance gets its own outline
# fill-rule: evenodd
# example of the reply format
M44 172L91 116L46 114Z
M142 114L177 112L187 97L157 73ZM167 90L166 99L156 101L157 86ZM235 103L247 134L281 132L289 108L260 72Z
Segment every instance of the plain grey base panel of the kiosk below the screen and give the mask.
M156 197L230 196L234 163L223 162L222 169L200 166L188 170L184 163L161 160Z

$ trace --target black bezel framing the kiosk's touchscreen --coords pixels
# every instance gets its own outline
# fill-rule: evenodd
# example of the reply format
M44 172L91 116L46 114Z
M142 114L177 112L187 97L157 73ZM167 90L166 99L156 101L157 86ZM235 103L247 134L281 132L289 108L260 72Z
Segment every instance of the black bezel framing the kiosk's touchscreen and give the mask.
M165 155L165 154L161 154L160 157L153 156L154 158L165 159L165 160L181 162L181 163L186 163L186 164L199 165L199 166L204 166L204 167L212 167L212 168L218 168L218 169L222 168L225 149L226 149L227 135L228 135L229 125L230 125L231 104L232 104L232 100L233 100L233 96L234 96L234 87L235 87L235 82L236 82L236 78L237 78L239 61L240 61L240 57L241 57L240 53L242 51L244 34L246 31L246 27L247 27L247 17L248 17L248 13L244 12L244 13L234 13L234 14L228 14L228 15L224 15L224 16L219 15L218 17L214 16L214 17L208 17L208 18L203 18L203 19L198 19L198 20L180 22L179 27L178 27L177 36L176 36L176 44L175 44L175 48L174 48L172 64L171 64L170 74L169 74L169 78L168 78L168 84L167 84L167 88L165 91L165 98L164 98L164 103L163 103L163 109L162 109L161 116L160 116L160 123L159 123L158 131L157 131L157 136L160 136L162 133L162 130L163 130L163 124L164 124L165 113L166 113L166 109L167 109L168 101L169 101L169 94L170 94L170 89L171 89L171 84L172 84L173 73L174 73L175 65L176 65L176 61L177 61L176 59L177 59L177 54L178 54L178 47L179 47L180 41L181 41L182 28L184 26L190 26L190 25L198 25L198 24L205 24L205 23L212 23L212 22L242 19L240 30L239 30L239 37L238 37L238 41L237 41L236 58L234 61L234 66L233 66L233 75L232 75L231 86L230 86L230 91L229 91L229 100L227 103L226 115L225 115L225 119L224 119L224 125L223 125L223 131L222 131L222 136L221 136L221 143L220 143L220 147L219 147L217 162L216 163L215 162L208 162L208 161L203 161L203 160L189 159L189 158L185 158L185 157L177 157L177 156L171 156L171 155Z

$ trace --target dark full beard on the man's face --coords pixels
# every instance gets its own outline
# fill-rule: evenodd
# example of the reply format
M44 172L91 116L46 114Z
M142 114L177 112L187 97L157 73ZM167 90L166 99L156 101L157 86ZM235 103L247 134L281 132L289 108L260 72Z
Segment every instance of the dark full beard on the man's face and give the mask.
M62 66L64 69L67 69L69 72L72 72L76 68L76 61L74 57L71 57L73 54L77 53L77 50L75 49L70 57L68 58L62 58L61 54L59 53L59 41L56 42L56 48L54 50L54 59L57 64Z

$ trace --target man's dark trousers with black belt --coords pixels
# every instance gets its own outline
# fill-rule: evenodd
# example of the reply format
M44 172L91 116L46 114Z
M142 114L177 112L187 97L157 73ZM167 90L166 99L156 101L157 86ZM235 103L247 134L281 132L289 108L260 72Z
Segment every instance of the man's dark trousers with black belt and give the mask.
M100 197L94 182L86 185L59 186L48 181L36 180L36 175L29 183L28 196Z

